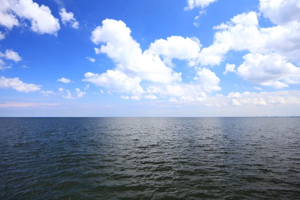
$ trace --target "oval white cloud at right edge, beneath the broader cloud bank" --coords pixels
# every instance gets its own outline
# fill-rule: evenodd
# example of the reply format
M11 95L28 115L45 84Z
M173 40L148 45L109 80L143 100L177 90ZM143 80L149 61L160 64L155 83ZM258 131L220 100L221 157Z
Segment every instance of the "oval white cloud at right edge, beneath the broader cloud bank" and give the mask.
M300 83L300 68L277 54L246 54L244 62L237 67L237 74L243 79L274 88Z

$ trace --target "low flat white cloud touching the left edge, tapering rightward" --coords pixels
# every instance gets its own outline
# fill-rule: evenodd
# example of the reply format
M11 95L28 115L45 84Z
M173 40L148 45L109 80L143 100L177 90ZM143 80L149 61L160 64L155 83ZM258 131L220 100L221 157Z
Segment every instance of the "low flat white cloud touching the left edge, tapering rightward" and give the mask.
M18 77L6 78L4 76L0 77L0 88L12 88L17 91L29 92L40 90L41 85L29 84L21 81Z

